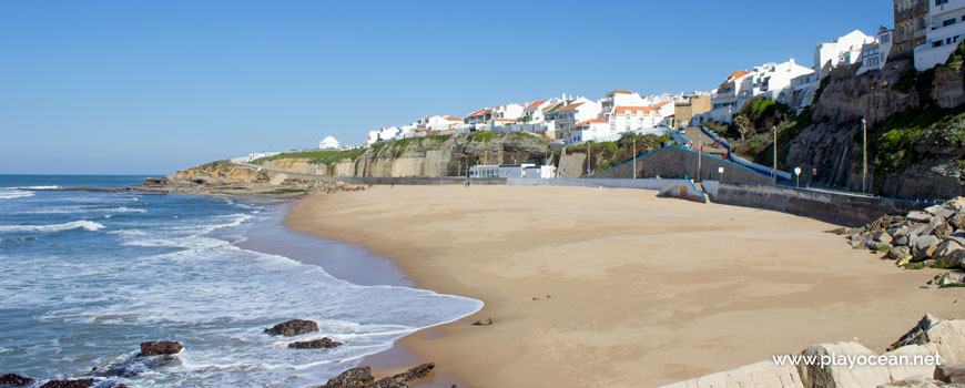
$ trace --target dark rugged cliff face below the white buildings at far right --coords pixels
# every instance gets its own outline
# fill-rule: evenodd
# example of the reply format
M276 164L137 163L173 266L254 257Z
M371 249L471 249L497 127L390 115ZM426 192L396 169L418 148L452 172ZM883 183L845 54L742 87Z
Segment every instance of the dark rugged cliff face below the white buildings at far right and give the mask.
M894 127L896 116L910 116L902 118L904 121L926 121L930 119L915 118L914 112L947 110L965 102L965 76L961 65L916 73L910 60L898 60L890 62L882 71L856 76L831 75L825 82L812 106L813 124L802 129L791 141L782 163L784 169L801 167L802 182L860 191L861 119L866 118L871 193L903 198L943 198L965 193L962 174L952 157L961 151L962 144L942 144L942 141L924 144L918 139L907 140L907 145L901 147L888 149L890 145L883 144L918 133L913 126ZM949 146L953 150L948 150ZM941 152L932 152L932 149ZM882 159L903 162L892 163L901 167L885 167L880 163ZM812 169L817 170L816 176L812 176Z

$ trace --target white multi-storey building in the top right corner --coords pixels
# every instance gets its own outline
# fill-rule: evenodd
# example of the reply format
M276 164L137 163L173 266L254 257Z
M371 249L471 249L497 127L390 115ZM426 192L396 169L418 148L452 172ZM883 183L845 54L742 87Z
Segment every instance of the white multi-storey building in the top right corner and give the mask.
M925 44L915 48L918 71L945 63L965 38L965 0L932 0L925 37Z

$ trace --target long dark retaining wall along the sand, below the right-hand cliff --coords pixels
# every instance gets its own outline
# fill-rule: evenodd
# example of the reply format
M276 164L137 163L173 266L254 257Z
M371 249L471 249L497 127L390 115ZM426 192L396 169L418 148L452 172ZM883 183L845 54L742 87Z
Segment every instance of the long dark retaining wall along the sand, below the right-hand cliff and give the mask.
M833 193L770 184L704 181L715 203L765 208L839 225L864 225L885 214L904 215L935 203Z

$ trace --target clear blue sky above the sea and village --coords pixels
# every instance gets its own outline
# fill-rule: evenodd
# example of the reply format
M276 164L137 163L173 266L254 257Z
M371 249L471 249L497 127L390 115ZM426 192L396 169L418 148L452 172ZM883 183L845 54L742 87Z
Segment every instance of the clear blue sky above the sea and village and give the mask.
M892 1L0 1L0 174L170 174L561 93L711 90Z

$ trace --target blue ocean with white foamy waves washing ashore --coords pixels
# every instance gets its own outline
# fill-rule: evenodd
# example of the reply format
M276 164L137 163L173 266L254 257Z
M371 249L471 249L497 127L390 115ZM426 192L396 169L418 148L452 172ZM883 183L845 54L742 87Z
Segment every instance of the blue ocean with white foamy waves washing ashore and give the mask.
M126 365L131 376L103 379L136 387L313 386L407 334L482 307L413 288L400 275L336 278L319 263L351 256L348 265L333 266L337 274L352 273L351 263L384 262L344 244L303 246L317 257L298 261L243 248L248 235L265 238L265 227L294 234L278 232L286 205L277 201L13 188L124 187L143 178L0 175L0 374L43 382ZM374 272L394 270L383 267ZM321 333L263 333L295 318L317 321ZM287 348L323 336L345 345ZM148 340L176 340L184 350L163 367L125 364Z

